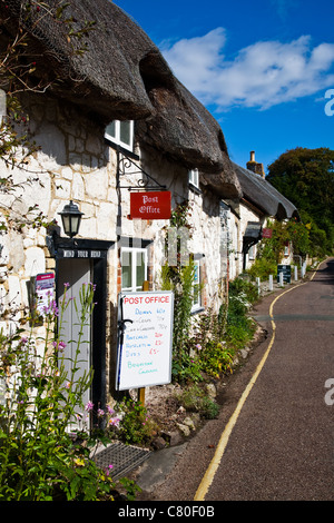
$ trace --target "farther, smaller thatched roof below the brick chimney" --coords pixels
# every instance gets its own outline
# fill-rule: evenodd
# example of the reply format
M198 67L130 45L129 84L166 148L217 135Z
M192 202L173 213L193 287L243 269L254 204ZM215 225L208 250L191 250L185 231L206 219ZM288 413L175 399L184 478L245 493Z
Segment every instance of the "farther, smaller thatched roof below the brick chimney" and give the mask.
M277 219L299 218L297 208L265 178L233 162L243 198L264 215Z

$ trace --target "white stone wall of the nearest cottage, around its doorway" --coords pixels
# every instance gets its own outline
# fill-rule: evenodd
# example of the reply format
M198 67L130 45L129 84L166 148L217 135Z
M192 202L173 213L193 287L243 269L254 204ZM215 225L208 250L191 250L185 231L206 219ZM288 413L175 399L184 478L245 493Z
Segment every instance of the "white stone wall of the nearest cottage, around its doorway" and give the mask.
M14 219L28 213L38 204L38 213L47 220L56 219L61 227L59 211L70 199L85 214L79 238L115 241L108 255L107 270L107 372L115 342L115 307L119 290L119 236L153 240L151 282L158 288L158 277L164 263L164 227L169 220L130 220L128 215L129 190L117 190L117 155L104 138L104 129L86 119L68 103L47 97L33 97L28 103L30 132L40 150L29 157L24 170L9 170L0 164L0 176L12 176L18 185L11 195L0 195L0 219L8 226L8 233L0 236L0 306L16 308L19 319L20 307L28 307L27 286L31 277L52 270L55 259L47 247L47 231L43 227L24 226L16 230ZM173 208L189 199L191 211L189 223L193 237L189 250L200 257L203 267L203 305L218 308L222 299L222 257L219 198L209 191L194 193L188 187L188 171L154 150L139 150L141 167L157 181L171 191ZM196 167L196 166L194 166ZM120 180L121 185L136 185L140 175L135 167ZM27 178L31 178L27 182ZM21 184L21 185L20 185ZM61 236L63 231L61 230ZM114 310L114 313L111 312ZM112 365L112 363L111 363ZM108 379L107 379L108 382Z

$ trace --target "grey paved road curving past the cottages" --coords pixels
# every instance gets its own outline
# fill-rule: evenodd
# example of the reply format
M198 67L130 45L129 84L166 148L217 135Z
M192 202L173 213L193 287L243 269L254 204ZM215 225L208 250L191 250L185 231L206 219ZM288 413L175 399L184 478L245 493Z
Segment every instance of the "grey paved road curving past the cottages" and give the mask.
M268 336L226 387L218 420L189 442L151 499L191 501L199 487L203 501L334 500L334 405L325 402L326 393L334 398L325 387L334 378L334 259L276 298L254 310ZM224 427L264 355L217 457ZM210 478L203 480L208 467Z

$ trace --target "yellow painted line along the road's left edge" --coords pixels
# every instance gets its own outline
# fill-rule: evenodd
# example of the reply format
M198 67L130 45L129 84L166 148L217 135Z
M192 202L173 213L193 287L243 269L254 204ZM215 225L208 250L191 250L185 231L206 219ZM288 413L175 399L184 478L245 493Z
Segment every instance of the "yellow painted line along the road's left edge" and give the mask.
M318 266L316 267L314 274L312 275L311 280L314 278L315 273L318 269ZM232 433L232 431L233 431L233 428L234 428L234 426L237 422L237 418L240 414L240 411L242 411L242 408L243 408L243 406L244 406L244 404L245 404L245 402L246 402L246 399L247 399L247 397L248 397L248 395L249 395L249 393L253 388L253 385L255 384L255 382L256 382L256 379L257 379L257 377L258 377L258 375L259 375L259 373L261 373L261 371L262 371L262 368L263 368L263 366L264 366L264 364L265 364L265 362L266 362L266 359L269 355L269 352L272 351L272 347L273 347L274 342L275 342L275 333L276 333L276 324L274 322L274 316L273 316L274 305L276 304L276 302L279 298L282 298L282 296L284 296L287 293L291 293L295 288L299 288L302 285L305 285L305 284L306 284L306 282L302 283L302 284L298 284L295 287L292 287L292 288L285 290L284 293L279 294L279 296L277 296L273 300L273 303L269 307L269 317L271 317L272 327L273 327L273 335L272 335L271 343L269 343L268 348L266 349L262 361L257 365L255 373L253 374L247 387L245 388L242 397L238 401L236 409L234 411L233 415L230 416L230 418L229 418L229 421L228 421L228 423L227 423L227 425L226 425L226 427L225 427L225 430L224 430L224 432L220 436L220 440L218 442L215 455L214 455L214 457L213 457L205 475L203 476L203 480L202 480L202 482L200 482L200 484L197 489L197 492L195 494L194 501L204 501L205 500L205 496L206 496L206 494L207 494L207 492L208 492L208 490L209 490L209 487L210 487L210 485L214 481L215 474L216 474L217 468L220 464L220 461L222 461L222 457L224 455L225 448L227 446L230 433Z

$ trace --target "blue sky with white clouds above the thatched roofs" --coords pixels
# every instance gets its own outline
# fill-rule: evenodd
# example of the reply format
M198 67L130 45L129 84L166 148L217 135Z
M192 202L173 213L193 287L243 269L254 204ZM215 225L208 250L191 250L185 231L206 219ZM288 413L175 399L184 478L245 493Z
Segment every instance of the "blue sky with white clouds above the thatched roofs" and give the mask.
M255 150L267 170L295 147L334 149L333 1L115 3L219 121L233 161Z

